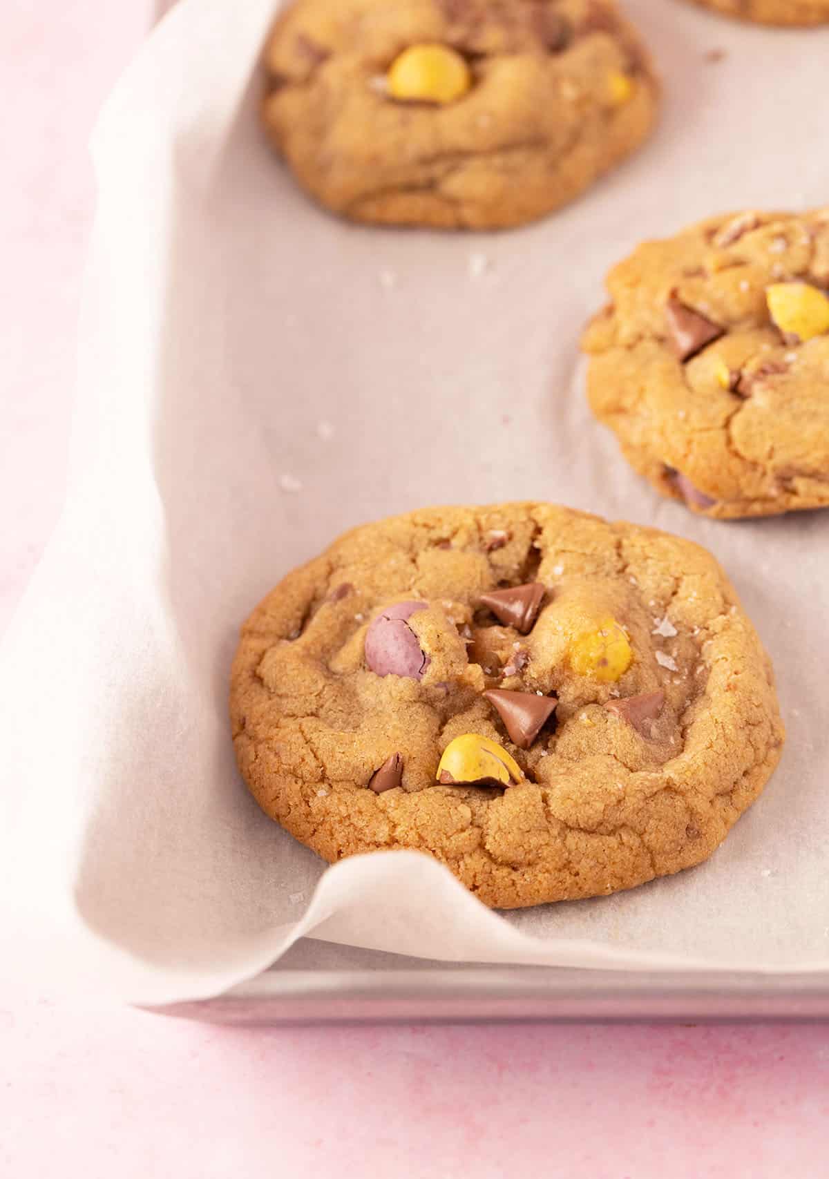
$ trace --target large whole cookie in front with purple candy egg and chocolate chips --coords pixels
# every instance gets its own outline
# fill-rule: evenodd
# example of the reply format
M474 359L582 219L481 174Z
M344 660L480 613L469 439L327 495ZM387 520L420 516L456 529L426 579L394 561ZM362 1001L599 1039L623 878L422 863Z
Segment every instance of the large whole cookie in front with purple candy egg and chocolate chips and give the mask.
M245 623L231 718L297 839L331 862L428 852L498 908L698 864L783 742L713 558L547 503L347 533Z

